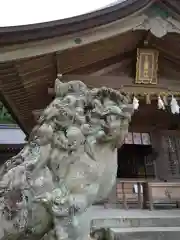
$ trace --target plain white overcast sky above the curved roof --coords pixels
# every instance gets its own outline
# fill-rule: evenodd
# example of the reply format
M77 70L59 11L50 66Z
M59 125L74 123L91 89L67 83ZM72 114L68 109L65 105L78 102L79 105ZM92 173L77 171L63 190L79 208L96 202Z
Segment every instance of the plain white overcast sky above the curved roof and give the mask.
M117 0L0 0L0 27L69 18L114 2Z

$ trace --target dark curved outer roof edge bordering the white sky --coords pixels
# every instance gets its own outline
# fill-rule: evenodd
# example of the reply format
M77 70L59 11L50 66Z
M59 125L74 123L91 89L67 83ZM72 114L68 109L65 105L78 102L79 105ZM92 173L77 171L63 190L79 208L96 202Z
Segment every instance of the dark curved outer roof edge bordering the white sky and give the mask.
M37 24L0 27L0 45L77 33L129 16L152 2L153 0L118 0L109 7L75 17ZM33 16L33 12L31 14ZM12 34L13 37L11 37Z

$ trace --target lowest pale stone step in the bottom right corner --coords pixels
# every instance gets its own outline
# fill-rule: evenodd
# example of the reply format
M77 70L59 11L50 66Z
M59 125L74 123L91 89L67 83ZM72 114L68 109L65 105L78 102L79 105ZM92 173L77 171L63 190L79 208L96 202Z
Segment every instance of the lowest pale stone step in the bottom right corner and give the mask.
M109 240L179 240L180 227L110 228Z

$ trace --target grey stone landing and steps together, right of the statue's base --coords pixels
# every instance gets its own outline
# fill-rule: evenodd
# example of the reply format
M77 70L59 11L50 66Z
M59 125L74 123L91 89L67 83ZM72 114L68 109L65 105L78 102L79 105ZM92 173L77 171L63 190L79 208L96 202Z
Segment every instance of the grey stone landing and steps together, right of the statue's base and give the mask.
M91 222L92 235L105 231L105 239L177 239L180 234L180 210L123 210L93 207L84 216ZM178 232L178 233L177 233ZM109 236L110 235L110 236ZM152 238L149 238L152 237ZM104 238L100 238L104 239Z

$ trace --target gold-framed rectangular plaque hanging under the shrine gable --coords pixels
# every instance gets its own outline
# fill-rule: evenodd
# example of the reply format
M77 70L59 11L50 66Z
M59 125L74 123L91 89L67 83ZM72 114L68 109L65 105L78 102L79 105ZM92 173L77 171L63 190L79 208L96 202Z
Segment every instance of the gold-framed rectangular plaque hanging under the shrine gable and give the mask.
M157 84L158 56L157 50L137 49L136 83Z

